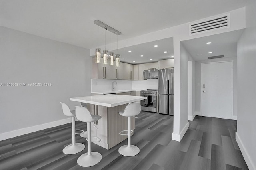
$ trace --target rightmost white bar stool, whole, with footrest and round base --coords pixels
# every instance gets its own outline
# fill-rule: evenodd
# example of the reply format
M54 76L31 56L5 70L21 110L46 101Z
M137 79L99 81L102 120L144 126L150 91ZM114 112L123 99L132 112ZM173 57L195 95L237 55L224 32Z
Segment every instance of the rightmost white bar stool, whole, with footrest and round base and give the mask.
M136 115L138 115L140 113L141 109L140 109L140 102L134 102L134 103L129 103L128 105L126 105L124 111L119 111L118 113L121 116L126 116L128 119L128 128L127 130L123 130L121 131L119 134L120 135L127 135L128 138L128 144L121 146L118 149L118 152L121 155L124 156L135 156L136 154L138 154L140 152L140 149L137 146L131 145L131 132L133 132L133 130L131 130L131 117L135 117ZM122 133L122 132L127 132L127 133Z

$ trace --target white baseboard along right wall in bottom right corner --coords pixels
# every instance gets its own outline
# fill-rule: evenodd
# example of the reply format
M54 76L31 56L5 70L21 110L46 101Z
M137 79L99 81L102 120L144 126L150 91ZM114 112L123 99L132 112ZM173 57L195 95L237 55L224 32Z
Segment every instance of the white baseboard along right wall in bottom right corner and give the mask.
M256 162L252 161L252 159L250 158L250 155L248 154L246 148L244 147L244 144L242 143L242 140L237 132L236 132L236 142L242 152L242 155L244 156L244 160L249 170L256 170L256 164L255 164Z

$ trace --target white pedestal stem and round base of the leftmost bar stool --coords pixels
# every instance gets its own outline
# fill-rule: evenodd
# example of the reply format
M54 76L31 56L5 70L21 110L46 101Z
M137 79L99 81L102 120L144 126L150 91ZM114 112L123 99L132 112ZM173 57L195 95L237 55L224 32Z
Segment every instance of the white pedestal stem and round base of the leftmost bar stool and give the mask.
M75 128L76 128L75 118L74 118L74 116L72 116L71 117L72 144L69 144L62 150L62 152L64 154L68 154L68 155L77 154L77 153L81 152L82 150L84 150L84 148L85 148L84 144L76 143Z

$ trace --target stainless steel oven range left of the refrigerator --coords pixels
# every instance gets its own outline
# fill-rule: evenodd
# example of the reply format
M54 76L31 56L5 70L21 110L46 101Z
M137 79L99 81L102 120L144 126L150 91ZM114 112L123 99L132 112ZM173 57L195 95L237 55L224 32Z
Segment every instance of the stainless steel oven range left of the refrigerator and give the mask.
M145 96L147 99L140 101L142 111L157 112L158 103L157 103L158 90L142 90L140 91L140 96Z

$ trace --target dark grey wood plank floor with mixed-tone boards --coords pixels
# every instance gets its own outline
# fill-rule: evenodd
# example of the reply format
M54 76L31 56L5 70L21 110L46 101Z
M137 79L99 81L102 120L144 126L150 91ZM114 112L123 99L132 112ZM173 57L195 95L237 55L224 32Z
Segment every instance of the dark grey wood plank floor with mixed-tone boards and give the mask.
M76 127L86 124L76 122ZM106 150L92 144L102 161L92 167L80 167L76 160L87 152L85 138L76 142L86 148L74 155L62 153L71 143L71 125L61 125L0 142L1 170L241 170L248 169L235 140L236 121L196 116L181 142L172 140L173 117L141 112L136 119L132 144L140 148L136 156L126 157L118 148Z

